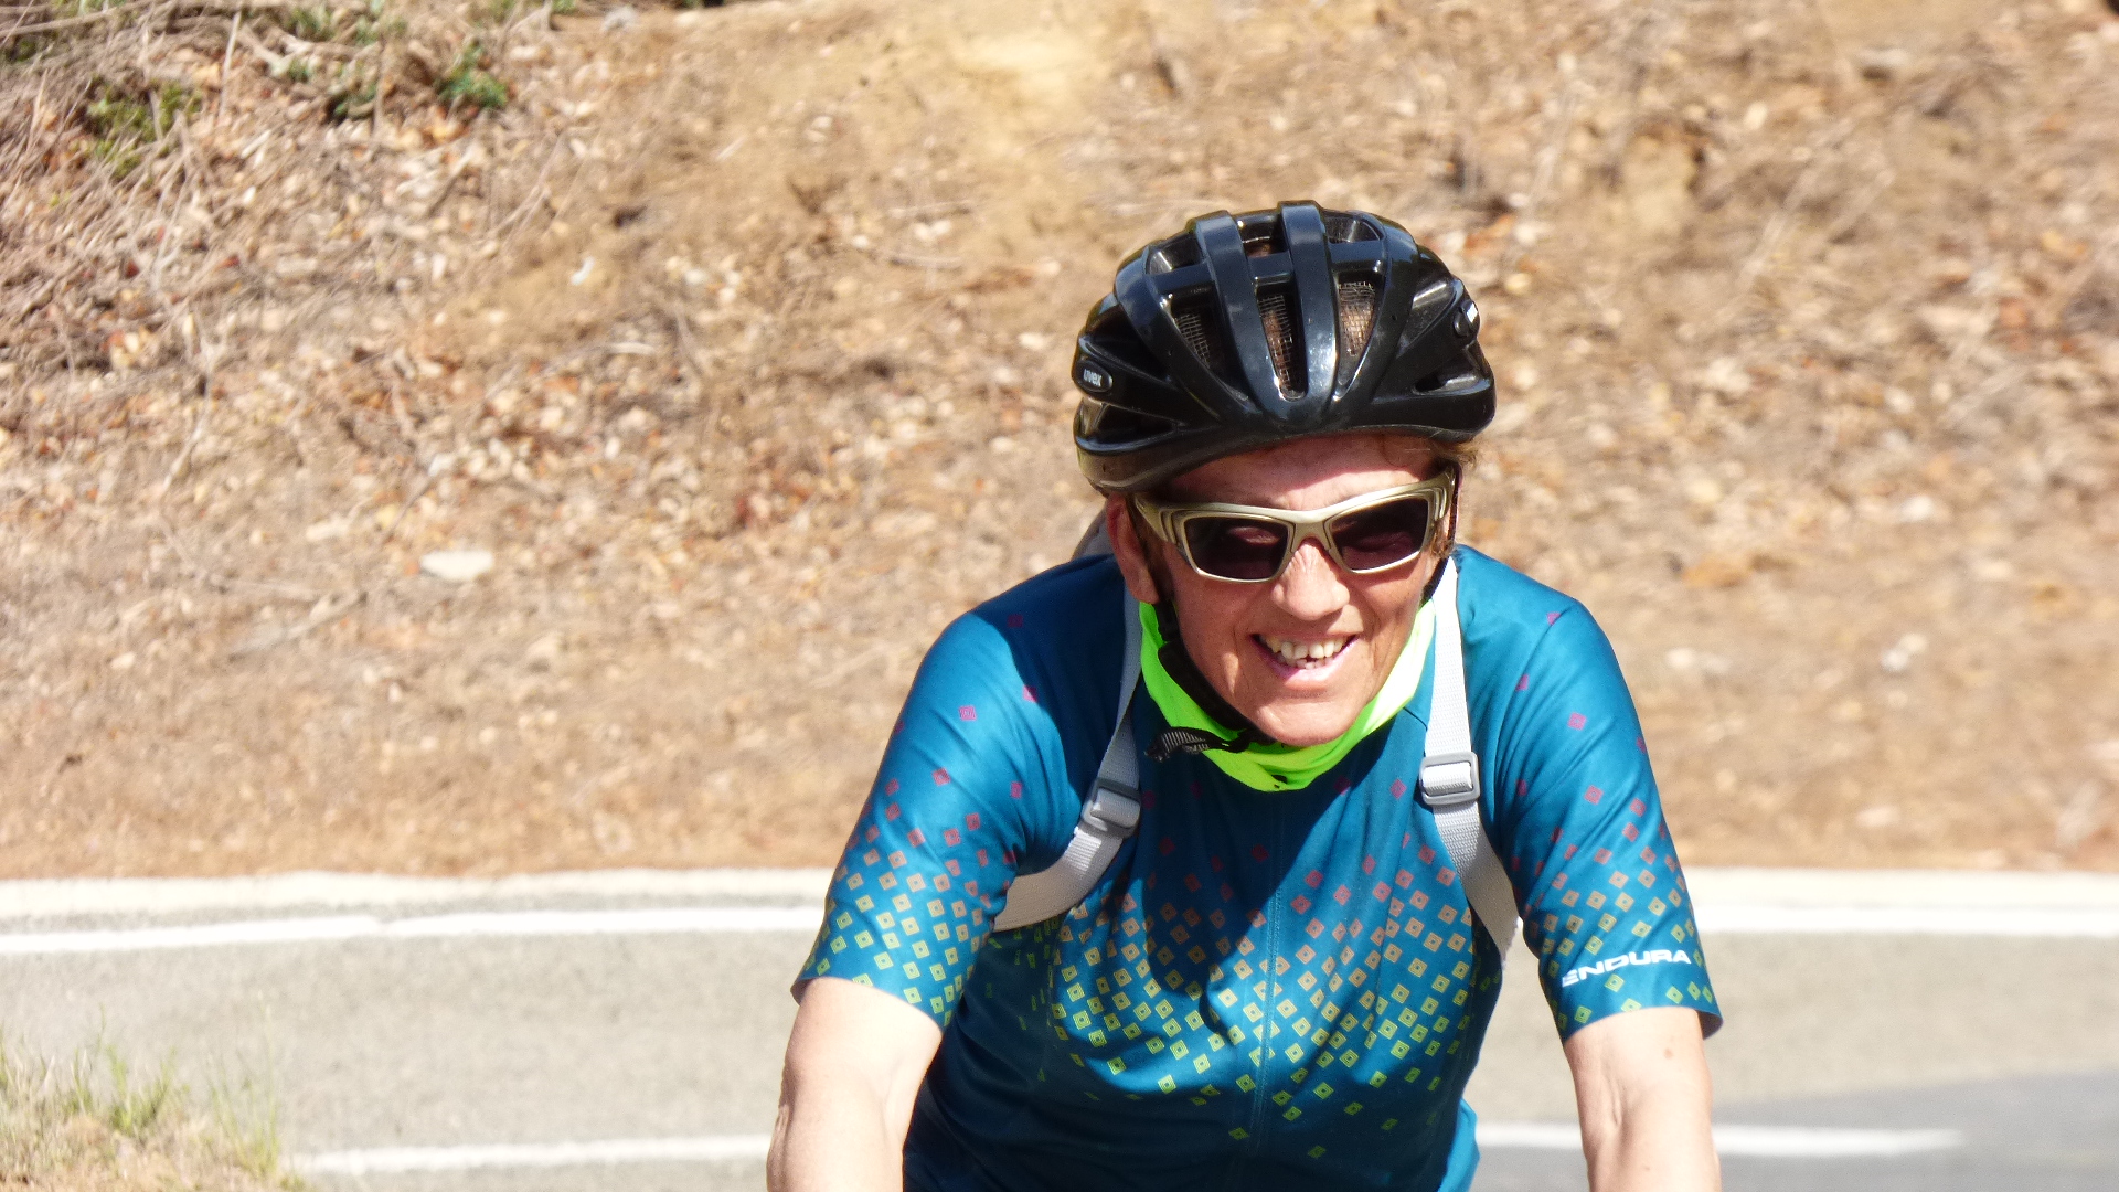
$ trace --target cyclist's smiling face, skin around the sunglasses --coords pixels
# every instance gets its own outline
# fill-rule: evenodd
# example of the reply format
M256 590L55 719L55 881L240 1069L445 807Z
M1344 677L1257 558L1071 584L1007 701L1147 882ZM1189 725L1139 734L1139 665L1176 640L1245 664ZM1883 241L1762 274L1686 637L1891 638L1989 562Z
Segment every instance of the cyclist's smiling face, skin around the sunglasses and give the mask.
M1403 437L1297 439L1189 471L1165 496L1322 509L1426 479L1437 467ZM1405 566L1352 575L1316 541L1303 541L1271 583L1229 583L1199 575L1153 532L1138 537L1123 498L1106 503L1104 526L1134 598L1153 602L1168 592L1199 672L1282 744L1324 744L1354 725L1399 662L1420 592L1447 549L1428 543Z

